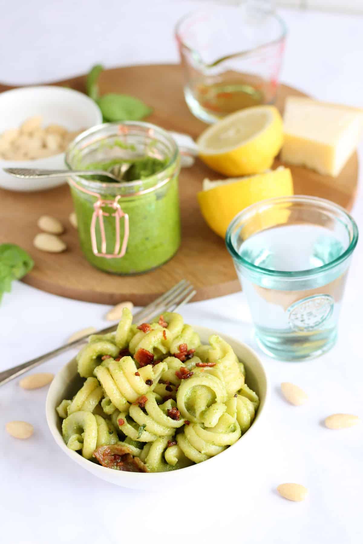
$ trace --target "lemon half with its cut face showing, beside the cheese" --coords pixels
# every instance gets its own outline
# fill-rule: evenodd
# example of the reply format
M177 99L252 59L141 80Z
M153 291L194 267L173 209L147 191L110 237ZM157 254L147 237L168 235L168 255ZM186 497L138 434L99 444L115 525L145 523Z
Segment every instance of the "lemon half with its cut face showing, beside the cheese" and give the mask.
M225 176L267 170L282 143L282 119L274 106L255 106L227 115L197 140L199 157Z

